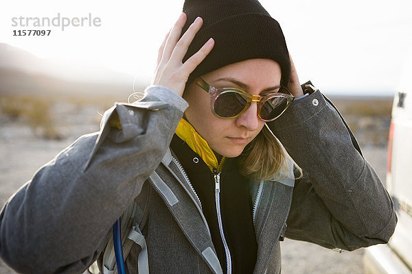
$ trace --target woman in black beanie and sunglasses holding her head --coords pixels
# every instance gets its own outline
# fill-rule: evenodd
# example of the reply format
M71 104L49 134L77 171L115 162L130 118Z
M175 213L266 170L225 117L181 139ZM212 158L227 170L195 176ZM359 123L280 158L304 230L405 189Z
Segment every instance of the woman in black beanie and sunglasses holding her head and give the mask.
M128 273L280 273L284 236L389 240L389 195L339 112L299 85L279 24L253 0L183 12L144 99L108 110L5 204L1 256L17 271L113 273L122 214Z

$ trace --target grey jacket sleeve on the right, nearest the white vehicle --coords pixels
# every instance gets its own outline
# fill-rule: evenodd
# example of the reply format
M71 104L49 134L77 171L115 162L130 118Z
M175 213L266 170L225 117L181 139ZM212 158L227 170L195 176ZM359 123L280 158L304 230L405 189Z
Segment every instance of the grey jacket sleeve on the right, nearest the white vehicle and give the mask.
M287 237L346 250L388 242L397 221L393 202L319 90L269 127L304 171L295 181Z

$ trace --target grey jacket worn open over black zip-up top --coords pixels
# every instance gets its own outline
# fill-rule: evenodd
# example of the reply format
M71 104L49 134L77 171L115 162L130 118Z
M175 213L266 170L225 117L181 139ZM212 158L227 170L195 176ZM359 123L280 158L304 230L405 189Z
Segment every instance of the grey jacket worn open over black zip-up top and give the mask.
M152 86L143 100L108 110L100 132L73 142L5 203L1 258L22 273L82 273L143 189L150 273L222 273L201 204L168 149L185 108L174 92ZM110 127L111 119L122 129ZM305 173L251 182L254 273L280 273L282 236L347 250L389 240L397 221L393 203L321 92L268 125ZM155 169L158 184L147 180ZM130 273L138 253L134 245L126 260Z

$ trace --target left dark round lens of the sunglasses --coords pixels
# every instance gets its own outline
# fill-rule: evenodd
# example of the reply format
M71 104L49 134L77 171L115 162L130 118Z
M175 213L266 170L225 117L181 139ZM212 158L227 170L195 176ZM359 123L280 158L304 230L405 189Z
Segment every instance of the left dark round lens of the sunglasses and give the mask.
M238 92L223 92L214 102L214 112L223 118L238 115L247 104L247 99Z

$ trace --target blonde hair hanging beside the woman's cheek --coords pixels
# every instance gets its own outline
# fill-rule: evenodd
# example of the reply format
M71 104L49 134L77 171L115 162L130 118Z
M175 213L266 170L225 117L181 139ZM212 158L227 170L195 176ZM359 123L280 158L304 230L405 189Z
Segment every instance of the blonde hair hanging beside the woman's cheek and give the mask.
M240 172L255 179L279 179L288 175L288 170L283 170L284 167L287 169L287 160L293 161L265 126L240 155ZM298 166L297 169L301 171Z

